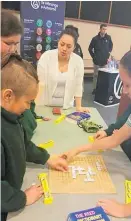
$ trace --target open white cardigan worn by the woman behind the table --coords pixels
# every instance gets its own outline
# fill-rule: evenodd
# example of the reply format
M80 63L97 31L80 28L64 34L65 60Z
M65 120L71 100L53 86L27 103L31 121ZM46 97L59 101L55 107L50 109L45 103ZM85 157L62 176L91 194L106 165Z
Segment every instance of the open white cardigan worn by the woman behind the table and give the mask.
M38 105L52 106L57 87L59 88L58 49L49 50L42 54L37 66L40 86L44 88ZM61 73L62 74L62 73ZM82 97L84 63L80 56L71 53L66 72L66 82L63 98L63 108L73 106L74 97ZM63 92L62 92L63 93Z

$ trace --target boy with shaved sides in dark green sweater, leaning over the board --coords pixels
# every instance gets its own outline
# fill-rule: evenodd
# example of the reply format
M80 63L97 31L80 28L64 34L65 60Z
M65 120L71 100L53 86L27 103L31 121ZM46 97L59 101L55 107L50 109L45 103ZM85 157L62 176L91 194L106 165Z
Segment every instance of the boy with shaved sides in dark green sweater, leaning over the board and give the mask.
M51 168L67 171L65 159L50 157L45 149L27 139L21 114L30 109L38 93L38 76L33 66L18 54L7 54L1 63L1 220L8 212L35 203L43 194L39 185L21 190L26 161L47 163Z

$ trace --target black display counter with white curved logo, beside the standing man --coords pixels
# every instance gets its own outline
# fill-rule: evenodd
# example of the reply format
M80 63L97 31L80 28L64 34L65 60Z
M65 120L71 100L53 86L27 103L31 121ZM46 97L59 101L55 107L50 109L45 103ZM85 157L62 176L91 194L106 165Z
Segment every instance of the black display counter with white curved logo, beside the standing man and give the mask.
M94 102L104 107L117 105L120 102L121 89L119 70L100 68Z

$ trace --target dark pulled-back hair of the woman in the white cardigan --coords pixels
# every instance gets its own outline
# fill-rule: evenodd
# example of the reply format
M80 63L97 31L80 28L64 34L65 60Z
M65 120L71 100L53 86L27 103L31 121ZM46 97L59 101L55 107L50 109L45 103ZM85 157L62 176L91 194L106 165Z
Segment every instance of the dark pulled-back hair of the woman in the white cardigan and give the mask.
M65 28L61 32L59 39L61 39L63 35L70 35L74 39L74 45L77 44L78 35L77 35L77 33L76 33L76 31L74 29L72 29L72 28Z

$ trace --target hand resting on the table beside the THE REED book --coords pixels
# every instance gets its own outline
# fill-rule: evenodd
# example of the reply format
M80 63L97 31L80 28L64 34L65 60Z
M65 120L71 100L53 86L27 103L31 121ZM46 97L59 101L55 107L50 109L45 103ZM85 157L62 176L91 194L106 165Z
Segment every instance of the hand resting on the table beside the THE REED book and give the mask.
M97 206L101 206L104 211L115 217L124 217L124 204L118 203L116 200L99 200Z

